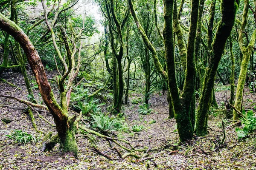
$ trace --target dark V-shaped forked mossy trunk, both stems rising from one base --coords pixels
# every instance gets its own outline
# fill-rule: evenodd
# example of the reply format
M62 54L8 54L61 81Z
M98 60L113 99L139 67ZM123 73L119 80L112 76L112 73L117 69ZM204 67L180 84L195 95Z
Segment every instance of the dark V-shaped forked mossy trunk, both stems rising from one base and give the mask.
M187 51L187 65L186 65L186 82L183 94L180 98L177 88L177 81L175 75L175 54L174 54L174 37L173 37L173 10L174 2L172 0L164 0L164 28L163 37L166 51L168 84L170 94L172 97L172 105L174 108L174 116L177 122L177 129L181 141L191 139L193 137L193 127L190 117L190 104L192 100L192 93L195 92L195 83L191 82L195 76L195 33L197 28L198 18L198 4L199 1L192 1L191 26L189 32L188 51ZM192 52L192 55L189 54ZM188 57L189 56L189 57ZM188 64L189 63L189 64ZM189 73L191 71L191 73ZM189 76L192 76L192 78ZM194 81L195 82L195 81ZM192 84L191 84L192 83ZM193 88L194 87L194 88Z

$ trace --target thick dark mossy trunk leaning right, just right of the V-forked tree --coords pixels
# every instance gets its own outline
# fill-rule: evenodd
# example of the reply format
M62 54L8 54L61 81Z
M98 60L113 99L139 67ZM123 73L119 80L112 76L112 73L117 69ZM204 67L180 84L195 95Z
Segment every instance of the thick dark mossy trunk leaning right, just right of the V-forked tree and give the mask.
M214 88L215 76L218 64L224 52L225 43L230 36L231 30L235 23L236 10L239 2L236 0L221 1L221 21L218 24L217 32L212 43L212 51L210 52L209 65L204 76L204 85L202 95L199 101L198 114L195 132L198 136L207 134L208 113L212 99L212 89Z

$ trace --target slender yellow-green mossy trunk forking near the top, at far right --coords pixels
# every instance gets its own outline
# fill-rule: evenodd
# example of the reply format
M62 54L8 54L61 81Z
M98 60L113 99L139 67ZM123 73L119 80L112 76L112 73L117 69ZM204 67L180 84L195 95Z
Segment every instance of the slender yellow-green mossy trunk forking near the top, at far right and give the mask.
M247 17L248 17L248 9L249 9L249 0L244 0L244 10L243 10L243 20L241 23L241 28L239 31L239 46L243 55L243 60L241 62L241 68L239 73L239 78L237 82L237 88L236 88L236 100L235 100L235 107L237 110L242 110L242 100L243 100L243 90L244 90L244 82L246 79L246 73L247 73L247 65L250 60L250 55L252 53L254 43L256 40L256 29L253 31L253 34L251 35L251 39L247 47L245 47L244 44L244 30L247 25ZM241 114L237 113L235 110L233 110L233 120L239 120L241 118Z

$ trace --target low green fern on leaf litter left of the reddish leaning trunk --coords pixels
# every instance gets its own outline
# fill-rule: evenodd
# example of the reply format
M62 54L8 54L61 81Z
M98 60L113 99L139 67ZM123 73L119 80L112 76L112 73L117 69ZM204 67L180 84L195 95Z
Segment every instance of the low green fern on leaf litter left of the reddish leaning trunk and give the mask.
M23 132L22 130L14 130L14 132L10 132L8 135L5 135L10 139L14 139L15 142L23 143L24 145L27 142L37 142L35 136L28 134L27 132Z

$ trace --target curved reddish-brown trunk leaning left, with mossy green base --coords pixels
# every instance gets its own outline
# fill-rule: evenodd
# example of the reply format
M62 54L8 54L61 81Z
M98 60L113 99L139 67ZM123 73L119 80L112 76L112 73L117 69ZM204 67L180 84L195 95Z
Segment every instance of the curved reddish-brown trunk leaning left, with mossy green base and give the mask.
M47 108L52 113L56 124L56 130L64 147L64 152L70 152L77 156L78 148L75 140L76 136L74 134L74 128L76 128L74 118L70 119L67 113L65 113L58 105L47 80L44 66L35 47L32 45L26 34L14 22L8 20L1 13L0 28L12 35L12 37L20 43L26 54L29 65L32 68L41 96L47 105Z

